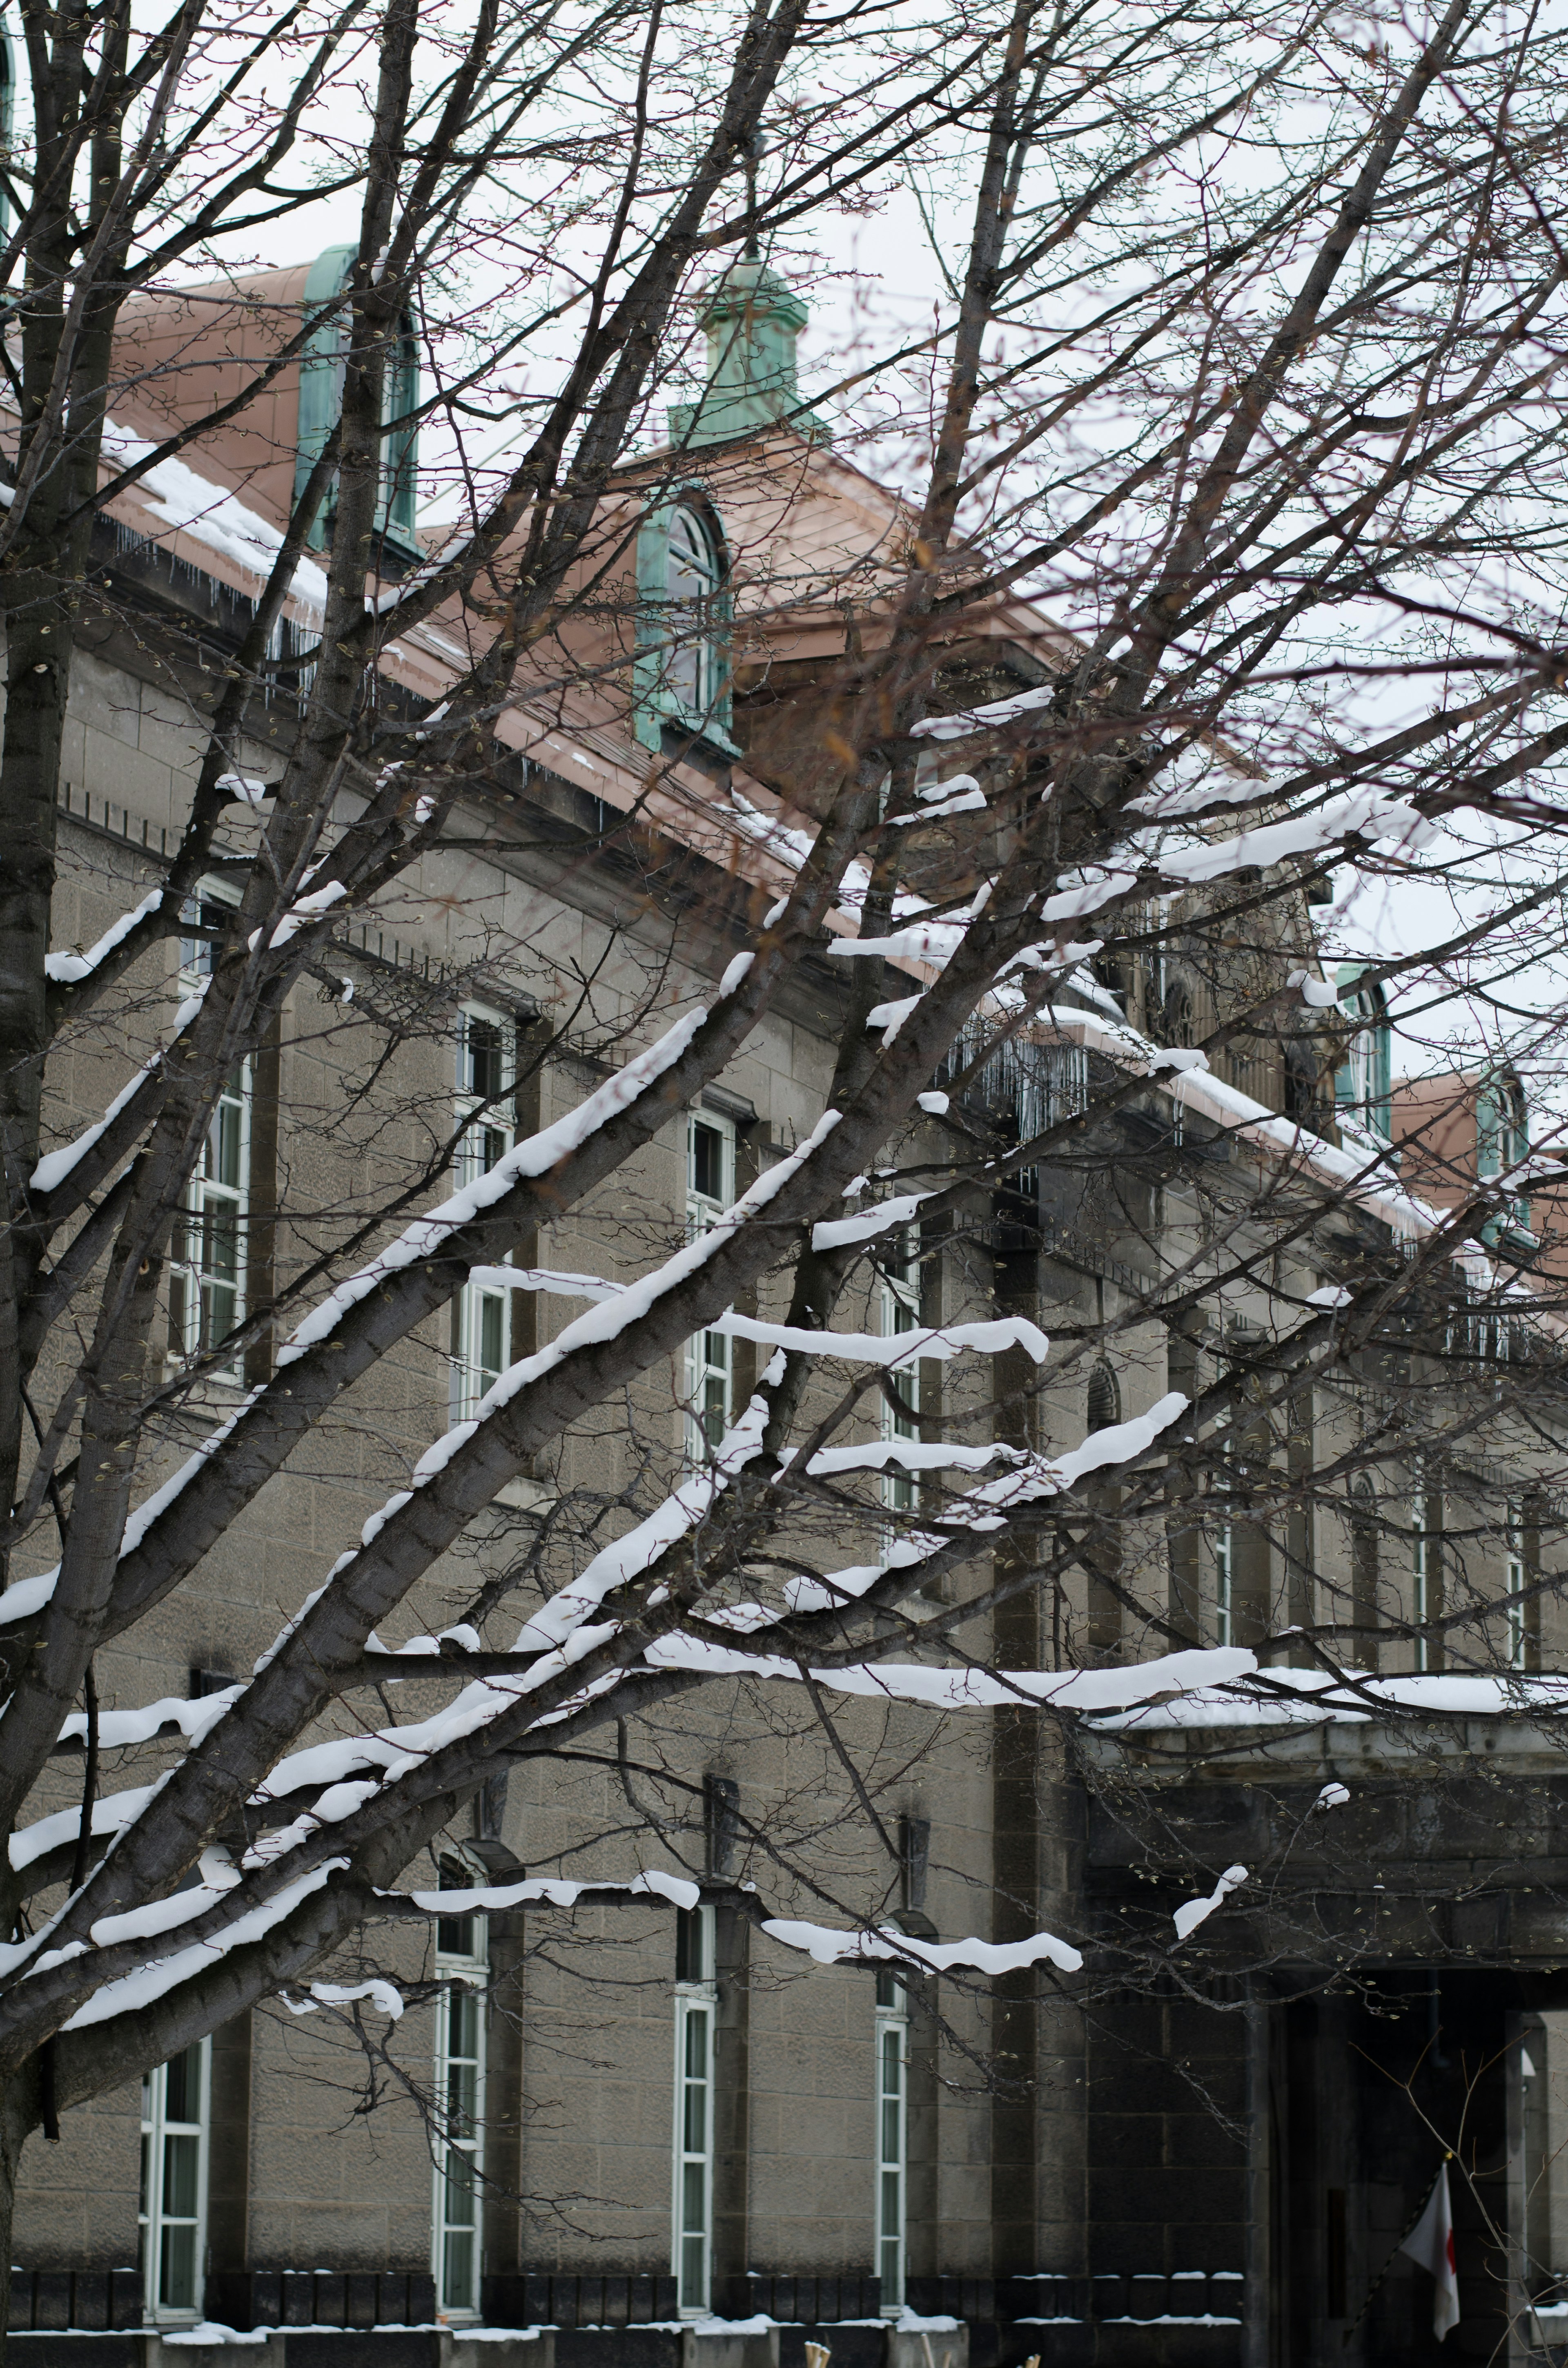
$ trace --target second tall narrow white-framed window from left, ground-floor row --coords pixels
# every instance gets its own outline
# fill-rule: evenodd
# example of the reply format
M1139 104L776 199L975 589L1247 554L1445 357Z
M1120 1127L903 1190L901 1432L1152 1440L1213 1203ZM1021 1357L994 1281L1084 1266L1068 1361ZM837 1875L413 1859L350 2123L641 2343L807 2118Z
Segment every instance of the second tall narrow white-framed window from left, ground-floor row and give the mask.
M441 1890L467 1890L467 1866L441 1861ZM486 2112L488 1928L483 1916L436 1918L436 1977L452 1980L436 2001L436 2309L478 2314L478 2195Z

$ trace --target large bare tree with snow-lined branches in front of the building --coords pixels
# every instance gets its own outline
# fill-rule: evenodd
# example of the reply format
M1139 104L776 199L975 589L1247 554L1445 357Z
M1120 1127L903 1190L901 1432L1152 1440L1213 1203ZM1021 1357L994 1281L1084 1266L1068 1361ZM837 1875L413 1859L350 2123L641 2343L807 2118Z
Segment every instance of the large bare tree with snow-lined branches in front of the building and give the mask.
M85 1745L85 1795L71 1830L12 1852L7 2200L40 2119L367 1923L426 1920L436 1894L398 1885L497 1769L599 1755L658 1833L680 1769L625 1736L720 1677L801 1686L893 1859L838 1693L1071 1724L1203 1686L1291 1695L1312 1674L1364 1703L1376 1646L1416 1669L1523 1667L1516 1615L1559 1584L1561 1336L1509 1217L1537 1167L1509 1156L1452 1205L1421 1201L1357 1125L1376 1082L1336 1115L1326 1080L1364 1061L1390 983L1452 1006L1521 947L1537 966L1561 952L1559 36L1476 0L1355 38L1260 7L1241 47L1227 12L1035 0L940 24L808 0L687 19L481 0L460 31L391 0L279 12L265 40L199 5L147 40L123 9L24 21L0 575L0 1819L26 1830L62 1738ZM251 90L279 57L272 111ZM329 111L372 69L348 159ZM227 403L187 400L178 353L147 362L137 305L320 197L322 170L362 197L341 291L258 339ZM753 786L789 800L772 824L748 807L782 893L763 895L765 867L715 888L701 954L670 938L613 1023L573 980L531 1040L535 1070L613 1035L628 1056L481 1177L445 1189L457 1141L436 1127L341 1224L301 1184L279 1222L315 1229L317 1253L171 1376L154 1345L171 1243L234 1063L306 1028L303 983L339 992L355 931L403 888L493 843L521 701L564 729L604 701L625 715L640 665L713 637L711 601L649 613L635 583L640 521L692 466L692 422L656 445L649 405L687 367L694 279L737 244L744 270L782 260L895 185L921 192L945 258L936 327L846 353L817 405L862 403L867 457L914 490L876 552L770 568L758 530L732 587L734 732ZM396 410L415 305L429 388ZM166 876L92 950L47 957L71 649L114 613L97 521L199 457L317 334L336 339L336 419L201 713ZM500 384L514 355L538 384ZM114 388L149 379L168 436L107 436ZM701 379L692 395L701 419ZM486 459L476 436L512 414L505 462ZM398 571L386 452L415 417L443 429L467 507ZM810 457L803 407L796 424ZM775 478L746 436L715 452L715 481L760 502ZM320 630L279 656L327 516ZM1037 680L1018 689L988 651L1026 597ZM824 611L843 656L791 670L791 623ZM426 623L450 649L438 696L396 687L398 644ZM192 921L277 680L298 727L232 864L237 902ZM685 755L649 746L632 815L573 855L616 862L651 912ZM1528 855L1499 857L1447 942L1364 964L1357 1016L1324 978L1317 888L1345 867L1364 888L1442 883L1466 860L1459 815L1504 855L1525 834ZM734 843L734 810L725 829ZM92 1030L140 1042L182 928L211 940L199 995L128 1080L121 1054L102 1118L45 1148L50 1063ZM699 995L703 969L718 985ZM140 1736L163 1752L168 1705L99 1714L95 1655L244 1534L265 1482L353 1418L355 1388L457 1291L516 1288L505 1262L630 1175L808 976L841 985L801 1139L703 1229L658 1241L649 1220L625 1286L542 1276L587 1312L429 1444L256 1674L187 1722L156 1793L99 1800L99 1752ZM450 983L360 999L367 1111L450 1002ZM320 1009L324 1035L348 1025ZM1108 1257L1116 1307L1059 1293L1047 1345L1045 1279L1104 1279ZM876 1295L895 1312L872 1324ZM756 1350L756 1388L718 1435L696 1418L682 1468L649 1392L708 1331ZM251 1388L213 1423L213 1376L242 1357ZM1118 1369L1156 1357L1161 1385L1123 1418ZM623 1418L647 1435L630 1499L531 1523L441 1643L381 1648L379 1627L452 1584L500 1489ZM1409 1513L1412 1456L1442 1523ZM1355 1497L1390 1468L1402 1513ZM1532 1542L1514 1551L1523 1497ZM1367 1539L1397 1539L1421 1587L1379 1591ZM438 1688L417 1736L379 1691L393 1677ZM329 1767L298 1757L324 1736ZM599 1897L689 1904L682 1880ZM843 1923L810 1833L777 1894L838 1918L775 1918L803 1949L936 1963ZM502 1897L545 1892L478 1902ZM706 1897L770 1906L720 1878ZM1026 1932L1007 1965L1078 1961ZM981 1942L940 1963L1007 1970ZM1151 1963L1158 1946L1127 1937L1120 1970Z

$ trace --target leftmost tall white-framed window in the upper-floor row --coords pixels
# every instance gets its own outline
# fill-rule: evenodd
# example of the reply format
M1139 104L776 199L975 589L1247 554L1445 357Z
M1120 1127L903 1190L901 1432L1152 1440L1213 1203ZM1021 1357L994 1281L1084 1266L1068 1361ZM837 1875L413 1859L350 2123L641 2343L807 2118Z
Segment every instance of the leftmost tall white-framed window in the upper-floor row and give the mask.
M180 919L180 990L189 995L213 976L216 935L232 919L234 900L204 886ZM206 1130L197 1172L168 1243L168 1352L204 1357L244 1317L246 1220L251 1210L251 1061L225 1077ZM239 1366L223 1366L237 1381Z

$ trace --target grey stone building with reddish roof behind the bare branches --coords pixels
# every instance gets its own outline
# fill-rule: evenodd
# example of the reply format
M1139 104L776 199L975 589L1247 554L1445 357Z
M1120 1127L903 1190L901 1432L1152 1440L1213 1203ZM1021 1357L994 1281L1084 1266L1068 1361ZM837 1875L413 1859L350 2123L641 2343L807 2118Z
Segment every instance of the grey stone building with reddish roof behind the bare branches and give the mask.
M282 320L341 265L341 256L324 256L310 272L268 275L249 294ZM741 272L753 275L739 291L746 303L732 275L713 305L715 393L706 422L685 422L689 478L637 528L632 559L637 585L668 599L708 597L727 578L748 587L751 606L737 601L734 649L722 661L734 665L732 694L713 699L699 680L703 665L720 663L701 644L689 656L692 680L670 680L632 635L623 651L630 713L609 696L540 694L507 718L512 760L483 798L467 800L452 848L407 879L374 924L355 924L334 973L294 995L277 1040L232 1080L175 1265L171 1373L244 1305L310 1260L341 1253L448 1137L457 1139L462 1177L490 1165L516 1130L571 1108L585 1080L623 1058L628 1032L635 1040L658 1011L722 973L746 921L789 876L791 834L815 796L812 684L841 646L834 601L846 580L874 594L898 504L836 457L812 422L779 426L782 395L793 398L801 305L758 268ZM746 324L739 341L737 317ZM223 393L225 334L211 305L192 317L178 308L142 315L135 358L178 358L180 367L168 379L175 393L159 395L159 381L140 379L154 393L142 395L142 410L126 398L126 433L159 433L171 417L161 403ZM279 374L265 419L197 448L211 502L178 509L154 471L107 504L95 554L102 597L81 635L59 815L62 947L90 945L166 869L206 699L182 656L192 620L220 663L253 592L244 538L256 519L277 526L301 462L320 450L327 400L329 367L308 355ZM625 478L628 504L640 466L647 476L649 464L635 464ZM415 564L412 516L403 523ZM786 613L772 637L758 623L767 597ZM301 646L289 635L303 635L303 620L296 604L279 637L277 689L251 718L246 777L261 784L277 774L296 715L287 658ZM995 609L985 635L952 651L950 703L1037 684L1054 646L1042 616L1023 604ZM388 656L388 696L415 710L433 703L445 663L441 632L412 632ZM696 708L708 715L703 732L689 725ZM651 791L649 755L666 760ZM945 770L959 770L959 755ZM237 798L225 852L242 857L256 826L253 805ZM128 1061L166 1025L182 985L201 976L204 900L220 905L227 893L218 862L178 954L83 1030L69 1073L59 1073L69 1077L52 1113L59 1139L102 1108ZM1253 964L1284 971L1305 959L1317 969L1305 902L1270 928ZM1028 1075L1026 1066L1004 1068L985 1092L1071 1096L1090 1075L1094 1030L1108 1014L1184 1047L1244 987L1206 969L1194 924L1191 959L1177 935L1158 978L1151 969L1106 971L1066 987L1059 1004L1082 1016L1078 1032L1066 1028ZM1310 1056L1258 1040L1234 1051L1232 1094L1334 1137L1338 1092L1343 1139L1355 1130L1386 1134L1386 1021L1374 997L1355 983L1348 992L1360 1004L1338 1087ZM540 1021L559 1023L573 1009L580 1051L535 1066ZM722 1087L547 1241L521 1246L519 1267L616 1281L649 1246L703 1222L703 1208L732 1198L815 1122L838 1009L831 964L805 969ZM386 1037L393 1054L372 1061ZM469 1125L471 1111L481 1118ZM1165 1160L1158 1179L1151 1144ZM1040 1402L1049 1437L1075 1444L1213 1371L1236 1328L1267 1321L1262 1300L1253 1305L1246 1291L1187 1333L1163 1326L1151 1307L1161 1272L1199 1238L1191 1179L1225 1158L1217 1120L1189 1115L1175 1139L1170 1106L1146 1096L1090 1139L1087 1158L1042 1172L1030 1205L1000 1212L978 1243L955 1243L902 1279L883 1274L855 1321L895 1331L907 1312L933 1321L995 1300L1042 1312L1047 1328L1063 1312L1137 1317L1113 1359L1066 1359ZM429 1189L448 1172L450 1163ZM1303 1295L1319 1274L1312 1255L1307 1243L1293 1279ZM502 1362L552 1338L561 1321L561 1302L547 1293L469 1286L450 1317L348 1392L199 1577L135 1632L133 1650L107 1655L104 1700L201 1700L246 1672L301 1591L320 1582L341 1537L374 1513L448 1418L462 1418ZM587 1428L550 1468L512 1482L410 1608L407 1634L438 1632L476 1584L526 1553L554 1506L576 1499L583 1518L604 1516L644 1452L677 1454L692 1421L744 1399L756 1371L748 1354L744 1343L696 1343L613 1423ZM171 1459L187 1437L182 1423L230 1404L265 1357L263 1340L246 1350L244 1369L171 1421ZM917 1378L928 1409L952 1385L936 1369ZM1352 1395L1322 1392L1307 1404L1291 1454L1326 1459L1352 1423ZM1440 1520L1431 1482L1421 1518L1412 1492L1409 1461L1390 1452L1388 1504L1371 1511L1303 1513L1303 1525L1274 1542L1246 1525L1194 1523L1127 1551L1161 1561L1153 1584L1194 1643L1253 1643L1289 1617L1322 1617L1329 1601L1409 1606L1421 1617L1416 1591L1438 1587L1428 1537ZM1393 1504L1400 1511L1388 1511ZM1525 1553L1511 1530L1487 1544L1483 1525L1471 1527L1473 1558ZM1400 1553L1395 1537L1407 1542ZM1000 1620L990 1639L1002 1667L1158 1650L1156 1639L1125 1632L1113 1589L1097 1594L1092 1577L1007 1617L1011 1627ZM1521 1622L1518 1667L1549 1667L1554 1650L1532 1610ZM1419 1669L1419 1653L1397 1646L1395 1669ZM1310 1750L1291 1743L1296 1759L1284 1774L1267 1731L1251 1750L1225 1738L1208 1738L1206 1750L1201 1726L1161 1743L1158 1719L1116 1740L1097 1733L1085 1745L1092 1767L1054 1726L1009 1710L964 1722L910 1705L867 1707L846 1712L846 1731L867 1764L907 1771L888 1795L900 1821L895 1906L905 1930L928 1937L1009 1939L1040 1925L1082 1925L1085 1902L1108 1920L1146 1916L1149 1880L1161 1902L1182 1880L1144 1833L1149 1802L1163 1804L1170 1833L1187 1835L1199 1864L1220 1871L1229 1859L1267 1857L1258 1826L1286 1814L1279 1800L1305 1797L1303 1788L1338 1781L1348 1767L1336 1757L1338 1726L1329 1743L1312 1729ZM1386 1788L1397 1821L1407 1797L1400 1748L1390 1743L1383 1764L1367 1733L1343 1729L1360 1738L1355 1781L1376 1797ZM1180 1745L1175 1767L1168 1743ZM1431 1748L1452 1755L1480 1743L1445 1731ZM827 1830L820 1847L836 1864L841 1894L874 1911L879 1871L850 1821L841 1771L791 1705L760 1722L739 1684L715 1684L670 1717L654 1750L692 1785L689 1814L668 1838L670 1864L734 1868L763 1883L770 1833L801 1833L829 1804L817 1819ZM1516 1793L1528 1830L1509 1835L1506 1849L1497 1828L1480 1842L1476 1812L1476 1830L1452 1838L1442 1864L1464 1861L1471 1894L1511 1902L1521 1864L1556 1847L1561 1778L1542 1755L1544 1743L1528 1759L1528 1809ZM73 1781L73 1767L62 1764L40 1814L69 1804ZM540 1767L486 1788L438 1854L436 1880L462 1887L521 1868L573 1873L590 1849L595 1873L628 1871L647 1842L640 1783L628 1769L585 1767L566 1778ZM1374 1826L1379 1814L1350 1812ZM1412 1913L1390 1918L1386 1942L1355 1956L1355 2003L1317 2003L1334 1958L1324 1942L1334 1918L1324 1923L1322 1902L1341 1902L1348 1918L1367 1906L1352 1859L1298 1859L1298 1892L1270 1911L1289 1930L1258 1946L1239 1939L1234 1970L1210 1980L1208 1996L1180 1987L1116 1996L1101 1982L1085 2013L1066 1991L1042 1994L1033 1977L1002 1975L985 1994L955 1989L947 2036L886 1977L803 1970L725 1913L580 1913L568 1935L521 1913L448 1916L424 1961L398 1958L393 1944L377 1958L377 1968L391 1961L393 1970L452 1977L386 2041L405 2079L367 2063L348 2013L298 2013L301 2001L279 1999L140 2091L69 2115L59 2143L33 2138L14 2231L12 2330L28 2368L118 2368L133 2344L201 2349L230 2337L284 2344L294 2368L412 2368L433 2347L445 2347L445 2359L476 2344L474 2330L516 2330L531 2368L550 2354L561 2368L666 2368L682 2344L685 2359L713 2359L715 2368L720 2351L722 2368L732 2351L746 2354L746 2368L775 2359L801 2368L808 2340L824 2342L841 2368L869 2368L888 2344L910 2368L945 2368L947 2359L962 2368L964 2356L976 2368L1030 2356L1251 2368L1426 2359L1414 2271L1388 2287L1402 2316L1379 2302L1345 2344L1379 2242L1414 2200L1431 2150L1419 2126L1393 2129L1376 2084L1357 2070L1367 2032L1419 2029L1426 2039L1424 2018L1438 1999L1433 2029L1464 2034L1450 2041L1452 2060L1478 2051L1485 2070L1473 2110L1490 2115L1485 2148L1497 2157L1497 2228L1506 2231L1523 2209L1518 2198L1506 2202L1509 2179L1518 2186L1525 2160L1509 2018L1535 2018L1542 2036L1530 2046L1547 2081L1559 2060L1549 1984L1556 1925L1537 1918L1525 1932L1528 1916L1499 1913L1478 1939L1464 1939ZM1402 1828L1388 1840L1376 1887L1421 1890L1433 1864L1431 1840ZM1447 1987L1433 1989L1438 1961L1450 1968L1440 1977ZM377 2044L386 2039L372 2008L360 2006L358 2018ZM992 2058L1002 2077L988 2084L976 2067ZM1435 2058L1426 2063L1431 2070ZM1440 2077L1450 2079L1447 2063ZM367 2079L379 2089L374 2110L362 2110ZM422 2096L431 2091L471 2098L471 2136L457 2141L429 2122ZM1549 2138L1540 2131L1556 2126L1551 2115L1556 2103L1537 2112L1528 2141L1542 2160ZM1556 2195L1556 2183L1547 2186ZM1530 2209L1540 2214L1540 2200ZM1485 2242L1492 2238L1478 2226L1476 2245ZM1478 2302L1471 2321L1495 2335L1495 2297ZM474 2359L488 2354L474 2349Z

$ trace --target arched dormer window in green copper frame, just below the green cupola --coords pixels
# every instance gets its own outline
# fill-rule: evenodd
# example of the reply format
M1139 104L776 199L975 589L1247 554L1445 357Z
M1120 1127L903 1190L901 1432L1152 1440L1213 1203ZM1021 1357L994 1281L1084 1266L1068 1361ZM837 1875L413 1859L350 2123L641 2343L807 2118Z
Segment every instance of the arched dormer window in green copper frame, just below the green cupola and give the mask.
M687 497L649 509L637 533L635 732L663 725L730 744L730 568L718 521ZM739 753L739 751L732 751Z

